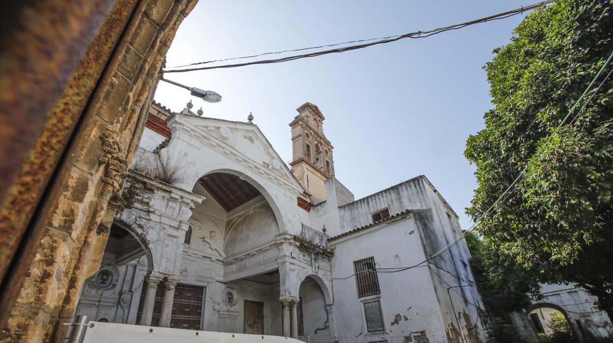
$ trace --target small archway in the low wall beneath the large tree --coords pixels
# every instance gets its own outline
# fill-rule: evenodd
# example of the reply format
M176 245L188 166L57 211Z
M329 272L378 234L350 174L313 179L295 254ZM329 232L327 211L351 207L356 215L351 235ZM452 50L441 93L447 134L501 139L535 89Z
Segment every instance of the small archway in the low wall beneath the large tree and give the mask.
M528 319L536 334L543 339L556 342L582 342L581 333L576 329L566 310L551 303L536 303L528 307Z

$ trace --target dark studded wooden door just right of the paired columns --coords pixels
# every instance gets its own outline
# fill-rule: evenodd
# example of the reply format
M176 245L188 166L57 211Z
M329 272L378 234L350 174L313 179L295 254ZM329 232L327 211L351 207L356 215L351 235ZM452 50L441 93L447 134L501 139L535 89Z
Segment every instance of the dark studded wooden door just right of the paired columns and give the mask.
M175 299L172 303L170 327L200 330L203 295L204 287L182 285L179 283L175 288Z

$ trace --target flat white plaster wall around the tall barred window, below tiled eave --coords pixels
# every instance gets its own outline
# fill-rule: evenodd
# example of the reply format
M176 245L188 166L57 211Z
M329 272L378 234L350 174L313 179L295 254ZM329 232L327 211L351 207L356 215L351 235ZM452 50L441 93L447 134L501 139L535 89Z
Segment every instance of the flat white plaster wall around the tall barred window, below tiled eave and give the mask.
M385 240L381 241L384 235ZM409 266L424 260L421 239L411 216L388 225L376 225L333 241L332 261L334 322L337 336L348 342L375 341L411 336L425 331L431 342L446 339L438 301L428 268L420 267L393 274L379 274L381 307L386 334L370 336L364 321L364 307L357 298L353 261L374 256L377 268ZM393 242L393 249L390 244ZM398 261L399 260L399 261ZM397 323L395 318L400 316ZM406 319L405 319L406 318ZM394 323L394 324L392 324ZM367 338L364 338L367 336Z

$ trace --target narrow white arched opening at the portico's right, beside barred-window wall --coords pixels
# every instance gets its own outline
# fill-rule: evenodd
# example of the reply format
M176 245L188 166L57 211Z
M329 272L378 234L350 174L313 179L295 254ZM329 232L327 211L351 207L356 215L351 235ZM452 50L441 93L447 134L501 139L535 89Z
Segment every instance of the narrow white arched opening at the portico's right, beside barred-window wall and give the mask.
M298 304L298 335L302 340L330 339L330 318L326 310L326 294L317 276L307 276L300 283ZM327 290L326 290L327 291Z

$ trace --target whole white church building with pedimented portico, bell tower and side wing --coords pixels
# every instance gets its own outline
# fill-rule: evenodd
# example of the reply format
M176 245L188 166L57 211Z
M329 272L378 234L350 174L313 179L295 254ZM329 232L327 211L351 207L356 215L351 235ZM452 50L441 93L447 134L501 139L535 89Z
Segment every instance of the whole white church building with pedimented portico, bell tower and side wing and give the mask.
M190 104L188 104L190 105ZM459 220L423 175L354 199L324 116L287 166L248 121L154 103L77 315L330 342L485 342ZM426 262L424 262L426 261Z

